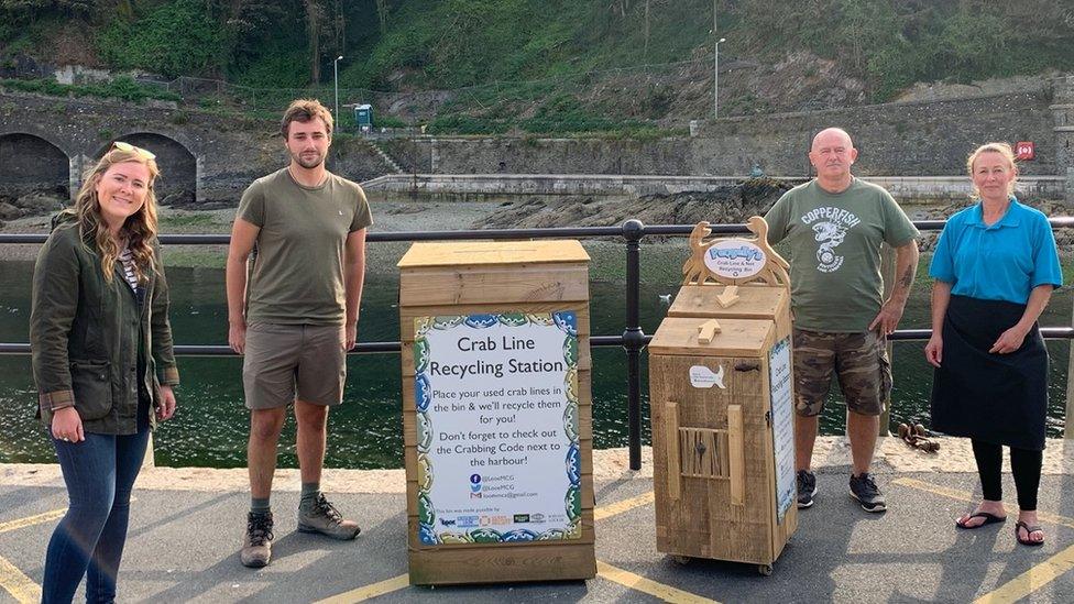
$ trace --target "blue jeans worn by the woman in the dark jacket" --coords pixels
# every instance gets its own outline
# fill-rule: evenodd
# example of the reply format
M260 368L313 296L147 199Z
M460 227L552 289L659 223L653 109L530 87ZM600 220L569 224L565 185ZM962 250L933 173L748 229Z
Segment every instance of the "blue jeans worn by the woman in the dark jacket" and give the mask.
M70 506L48 541L43 603L70 602L83 575L87 602L116 600L131 487L142 469L149 435L147 426L139 426L130 436L87 433L83 442L52 439Z

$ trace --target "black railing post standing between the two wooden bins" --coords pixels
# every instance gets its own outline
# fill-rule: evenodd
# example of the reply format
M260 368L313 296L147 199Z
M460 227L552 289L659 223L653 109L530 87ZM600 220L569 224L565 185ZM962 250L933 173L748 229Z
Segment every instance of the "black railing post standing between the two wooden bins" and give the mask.
M627 444L631 449L631 470L642 469L642 348L645 344L645 332L639 325L642 318L638 299L644 235L645 226L640 220L627 220L623 223L623 237L626 238L626 330L623 332L623 348L626 349Z

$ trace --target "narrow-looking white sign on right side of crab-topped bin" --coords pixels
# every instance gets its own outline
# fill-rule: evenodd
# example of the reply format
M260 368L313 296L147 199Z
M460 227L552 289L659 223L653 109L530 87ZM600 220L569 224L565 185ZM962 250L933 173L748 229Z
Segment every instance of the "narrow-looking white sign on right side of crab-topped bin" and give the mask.
M772 446L776 452L776 518L794 503L794 402L790 380L790 338L768 351L768 384L771 394Z

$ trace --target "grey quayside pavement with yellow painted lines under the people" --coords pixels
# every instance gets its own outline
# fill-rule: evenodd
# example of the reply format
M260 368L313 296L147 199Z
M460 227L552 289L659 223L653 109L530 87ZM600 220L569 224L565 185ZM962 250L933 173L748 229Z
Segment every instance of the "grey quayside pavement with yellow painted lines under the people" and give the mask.
M979 487L964 441L936 455L881 442L875 465L886 514L846 494L843 439L818 449L820 493L771 576L756 567L656 551L651 466L625 470L625 451L594 454L599 575L585 582L412 587L406 576L402 471L335 470L325 484L363 532L338 542L295 531L298 480L281 471L273 563L243 568L237 550L249 504L243 470L143 472L132 505L120 600L154 602L1074 602L1074 444L1051 441L1040 492L1048 542L1019 546L1013 519L974 531L953 518ZM967 457L968 455L968 457ZM1005 492L1013 484L1005 476ZM66 505L55 465L0 464L0 602L40 598L44 549ZM1011 504L1008 512L1015 513ZM81 598L81 592L76 598Z

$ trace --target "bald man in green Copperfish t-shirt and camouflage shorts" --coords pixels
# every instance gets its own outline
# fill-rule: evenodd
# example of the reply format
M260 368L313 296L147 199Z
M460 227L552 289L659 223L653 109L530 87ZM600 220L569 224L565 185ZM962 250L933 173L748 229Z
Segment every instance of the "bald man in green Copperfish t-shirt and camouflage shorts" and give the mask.
M888 191L851 175L855 158L846 132L818 133L809 152L817 178L783 194L765 219L769 243L786 240L790 251L798 507L813 505L817 494L810 462L834 372L850 411L851 496L867 512L884 512L869 464L891 392L887 336L899 325L913 284L918 230ZM897 254L896 283L883 303L881 243Z

